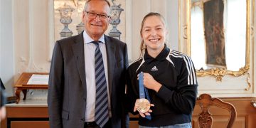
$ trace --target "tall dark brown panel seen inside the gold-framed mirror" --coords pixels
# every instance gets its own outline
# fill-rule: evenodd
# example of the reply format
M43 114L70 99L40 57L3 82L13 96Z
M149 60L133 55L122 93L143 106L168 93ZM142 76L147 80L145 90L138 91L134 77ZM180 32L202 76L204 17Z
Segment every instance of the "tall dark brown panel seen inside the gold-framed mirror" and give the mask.
M203 24L206 40L206 65L226 67L223 0L210 0L203 4Z

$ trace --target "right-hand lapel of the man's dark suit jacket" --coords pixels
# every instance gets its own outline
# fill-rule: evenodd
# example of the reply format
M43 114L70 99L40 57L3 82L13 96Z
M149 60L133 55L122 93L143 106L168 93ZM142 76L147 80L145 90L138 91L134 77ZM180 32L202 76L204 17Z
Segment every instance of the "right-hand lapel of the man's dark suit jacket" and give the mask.
M107 70L108 70L108 81L109 81L109 90L110 95L112 94L112 85L113 85L113 75L114 75L114 52L115 47L111 42L110 37L105 36L106 49L107 49Z

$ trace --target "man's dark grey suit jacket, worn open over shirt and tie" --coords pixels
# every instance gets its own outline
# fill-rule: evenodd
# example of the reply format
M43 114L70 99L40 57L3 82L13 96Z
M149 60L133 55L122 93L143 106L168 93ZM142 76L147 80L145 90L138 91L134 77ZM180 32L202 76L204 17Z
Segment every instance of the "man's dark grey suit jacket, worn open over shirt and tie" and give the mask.
M105 36L112 127L127 127L123 109L127 45ZM85 124L86 80L82 33L55 43L48 90L48 113L52 128L83 128Z

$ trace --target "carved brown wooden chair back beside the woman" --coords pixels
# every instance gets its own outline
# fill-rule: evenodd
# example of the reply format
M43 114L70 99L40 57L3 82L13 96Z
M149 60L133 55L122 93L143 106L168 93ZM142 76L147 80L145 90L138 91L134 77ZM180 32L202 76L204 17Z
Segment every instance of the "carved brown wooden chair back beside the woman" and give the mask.
M199 105L202 110L198 117L198 125L200 128L212 127L213 117L212 114L209 112L210 106L216 106L228 110L228 112L230 112L230 117L228 120L227 128L231 128L233 126L237 112L232 104L228 102L223 102L219 98L211 97L208 94L202 94L197 98L196 105Z

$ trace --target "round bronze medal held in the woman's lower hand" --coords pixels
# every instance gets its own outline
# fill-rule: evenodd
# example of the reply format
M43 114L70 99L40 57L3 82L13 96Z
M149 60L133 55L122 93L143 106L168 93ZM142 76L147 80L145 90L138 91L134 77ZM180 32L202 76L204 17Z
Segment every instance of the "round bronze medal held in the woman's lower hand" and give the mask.
M141 113L148 112L150 109L150 102L146 99L136 100L135 106L137 107L137 111Z

